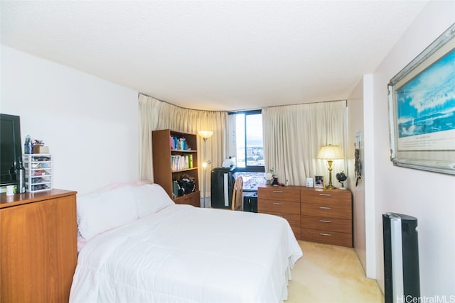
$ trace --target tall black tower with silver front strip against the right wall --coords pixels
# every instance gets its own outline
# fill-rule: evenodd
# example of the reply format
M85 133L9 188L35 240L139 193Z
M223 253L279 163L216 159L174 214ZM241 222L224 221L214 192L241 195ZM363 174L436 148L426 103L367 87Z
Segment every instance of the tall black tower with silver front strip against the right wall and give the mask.
M382 214L385 303L419 302L417 218Z

